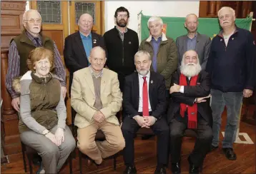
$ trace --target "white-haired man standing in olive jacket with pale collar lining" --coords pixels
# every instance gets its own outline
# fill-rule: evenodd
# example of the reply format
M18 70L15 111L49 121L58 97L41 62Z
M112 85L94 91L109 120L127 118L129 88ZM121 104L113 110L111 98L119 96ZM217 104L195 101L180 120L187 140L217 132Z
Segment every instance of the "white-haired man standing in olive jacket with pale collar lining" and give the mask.
M147 21L150 31L148 39L142 41L139 50L150 53L152 57L151 70L164 76L167 88L167 98L169 98L169 85L171 76L177 70L177 46L173 39L167 37L163 32L163 21L157 16L152 16Z

